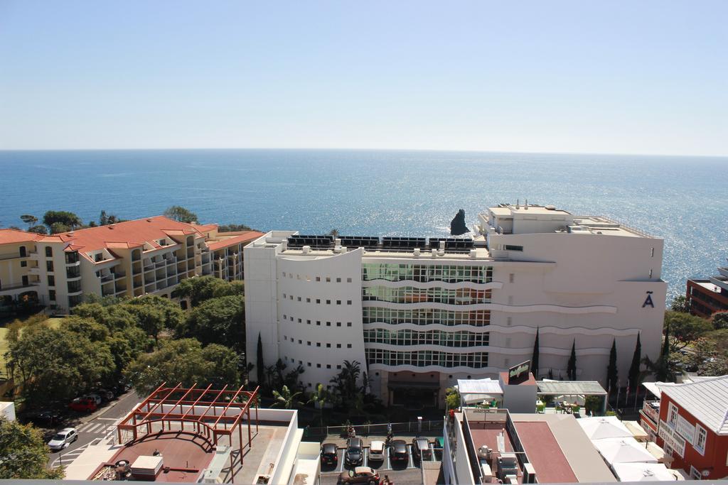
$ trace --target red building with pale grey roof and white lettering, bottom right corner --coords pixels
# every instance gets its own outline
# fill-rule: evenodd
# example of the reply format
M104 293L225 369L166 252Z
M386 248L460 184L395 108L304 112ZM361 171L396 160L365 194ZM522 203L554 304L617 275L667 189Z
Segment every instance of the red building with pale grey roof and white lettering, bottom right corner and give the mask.
M728 477L728 376L660 385L657 444L670 468L695 479Z

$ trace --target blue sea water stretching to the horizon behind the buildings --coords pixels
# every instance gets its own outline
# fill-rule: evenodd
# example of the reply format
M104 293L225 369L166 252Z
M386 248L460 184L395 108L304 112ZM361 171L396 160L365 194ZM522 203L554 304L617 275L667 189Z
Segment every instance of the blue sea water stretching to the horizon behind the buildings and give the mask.
M665 239L671 296L728 257L728 158L344 150L0 151L0 225L181 205L261 230L443 236L499 202L606 215Z

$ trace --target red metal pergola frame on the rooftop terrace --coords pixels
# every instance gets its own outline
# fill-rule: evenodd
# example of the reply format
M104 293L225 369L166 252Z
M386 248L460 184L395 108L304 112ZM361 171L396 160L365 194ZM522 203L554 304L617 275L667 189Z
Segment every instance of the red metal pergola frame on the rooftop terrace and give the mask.
M228 389L227 385L221 390L211 390L212 385L208 385L207 388L197 388L197 384L192 385L191 388L183 388L181 383L173 388L165 387L165 385L166 382L163 382L116 425L119 444L122 443L122 431L131 431L133 434L131 441L136 441L140 438L138 432L140 426L146 426L146 433L143 435L146 436L152 433L152 425L155 422L162 423L162 430L159 433L180 431L173 430L172 423L175 422L179 423L183 433L202 436L215 446L218 444L220 436L228 436L229 444L232 446L232 433L237 428L242 464L244 446L240 422L247 417L245 421L248 422L248 447L251 447L253 435L250 429L250 405L255 405L256 433L258 433L258 388L251 392L243 390L242 387L237 390ZM173 395L181 397L173 398ZM242 402L236 402L237 398L240 398ZM197 409L202 406L205 406L204 410ZM165 407L168 407L166 411ZM185 407L188 408L186 412ZM237 412L227 414L231 409L237 409ZM213 414L207 415L210 410L213 410ZM187 422L193 425L193 431L185 429ZM169 427L168 431L165 429L165 425Z

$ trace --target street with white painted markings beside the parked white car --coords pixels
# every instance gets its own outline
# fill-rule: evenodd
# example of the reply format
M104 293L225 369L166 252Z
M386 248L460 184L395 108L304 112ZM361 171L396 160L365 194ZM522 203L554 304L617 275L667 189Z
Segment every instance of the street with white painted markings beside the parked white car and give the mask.
M109 402L92 414L82 416L78 419L68 420L60 425L57 430L72 427L79 432L79 438L60 452L48 454L48 465L50 467L66 466L81 454L90 444L97 444L101 438L114 429L114 422L126 416L141 398L130 390L122 394L116 400ZM50 439L50 436L49 436Z

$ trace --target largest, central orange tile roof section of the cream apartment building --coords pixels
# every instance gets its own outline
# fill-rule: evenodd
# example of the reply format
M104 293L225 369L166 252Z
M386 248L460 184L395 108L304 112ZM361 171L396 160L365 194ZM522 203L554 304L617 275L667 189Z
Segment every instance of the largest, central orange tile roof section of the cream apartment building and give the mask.
M211 228L215 228L215 225L211 225ZM180 223L158 215L146 217L145 219L130 220L125 223L101 225L96 228L54 234L47 236L47 239L44 240L49 242L54 239L55 241L68 241L71 243L69 248L72 250L89 252L98 249L137 247L142 246L145 242L155 247L161 247L153 241L170 235L199 234L202 236L202 233L207 231L210 231L210 225Z

